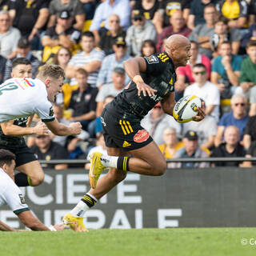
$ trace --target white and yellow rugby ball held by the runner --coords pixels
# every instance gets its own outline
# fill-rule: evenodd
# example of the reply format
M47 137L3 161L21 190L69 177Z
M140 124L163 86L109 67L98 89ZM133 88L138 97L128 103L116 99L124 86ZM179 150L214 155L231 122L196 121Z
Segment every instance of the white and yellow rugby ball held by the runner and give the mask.
M202 106L201 98L195 95L186 95L175 104L173 110L174 119L177 122L190 122L198 114L198 106Z

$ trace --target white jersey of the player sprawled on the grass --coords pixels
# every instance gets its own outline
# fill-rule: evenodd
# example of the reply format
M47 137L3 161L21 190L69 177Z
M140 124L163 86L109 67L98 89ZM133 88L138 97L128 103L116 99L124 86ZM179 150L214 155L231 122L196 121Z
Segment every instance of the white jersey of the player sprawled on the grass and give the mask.
M23 198L22 191L8 174L0 168L0 206L10 206L14 214L30 210Z

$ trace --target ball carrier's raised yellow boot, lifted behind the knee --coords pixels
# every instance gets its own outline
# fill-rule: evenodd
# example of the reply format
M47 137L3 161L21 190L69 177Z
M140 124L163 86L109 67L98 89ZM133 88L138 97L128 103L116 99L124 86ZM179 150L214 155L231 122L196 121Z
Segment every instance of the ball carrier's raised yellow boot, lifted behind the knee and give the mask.
M92 189L96 188L98 178L102 174L102 171L106 169L106 166L102 165L101 161L102 153L94 152L90 155L90 186Z

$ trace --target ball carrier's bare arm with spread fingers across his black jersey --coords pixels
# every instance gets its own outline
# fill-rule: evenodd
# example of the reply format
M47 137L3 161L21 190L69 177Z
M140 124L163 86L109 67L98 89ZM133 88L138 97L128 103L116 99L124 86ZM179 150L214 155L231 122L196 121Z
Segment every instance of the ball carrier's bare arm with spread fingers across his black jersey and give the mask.
M126 70L126 74L136 83L137 89L138 89L138 96L141 95L141 93L146 96L148 94L149 96L154 95L154 93L157 90L154 90L150 86L148 86L142 79L142 76L140 72L146 71L146 61L142 57L138 58L130 58L123 62L123 66Z

